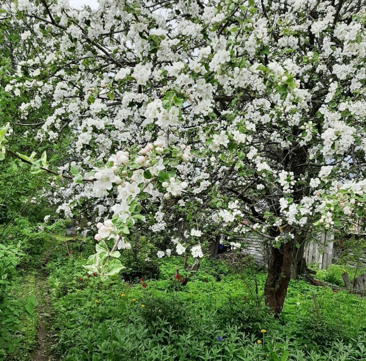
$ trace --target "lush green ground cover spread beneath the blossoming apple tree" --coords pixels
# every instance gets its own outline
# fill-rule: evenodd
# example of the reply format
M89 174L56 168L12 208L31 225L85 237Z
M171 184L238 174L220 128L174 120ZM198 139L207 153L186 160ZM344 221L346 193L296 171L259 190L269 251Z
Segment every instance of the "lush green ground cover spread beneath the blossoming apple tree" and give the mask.
M174 277L177 268L182 278L186 275L181 258L174 257L159 261L159 276L145 278L145 288L139 278L127 283L119 277L103 284L82 268L93 245L93 240L57 236L44 266L52 313L47 322L53 335L53 345L47 347L55 359L366 359L363 298L291 281L283 313L276 320L263 305L265 273L240 263L245 260L228 265L204 258L185 286ZM125 257L127 266L128 260ZM24 273L19 290L22 297L36 294L42 306L47 297L37 289L37 272L36 268ZM37 327L44 319L43 308L32 316L23 314L21 345L13 359L35 355L32 348L39 347Z

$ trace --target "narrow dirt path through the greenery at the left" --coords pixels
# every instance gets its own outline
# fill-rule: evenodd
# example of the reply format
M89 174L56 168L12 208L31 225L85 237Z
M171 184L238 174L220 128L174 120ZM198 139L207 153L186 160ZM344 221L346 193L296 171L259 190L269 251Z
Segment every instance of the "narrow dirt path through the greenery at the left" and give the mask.
M45 253L42 268L39 270L36 278L37 300L39 302L39 305L37 306L39 329L37 334L38 346L32 353L32 361L54 360L51 356L51 349L53 346L53 335L50 328L51 303L49 287L47 284L47 273L45 269L50 254L51 249Z

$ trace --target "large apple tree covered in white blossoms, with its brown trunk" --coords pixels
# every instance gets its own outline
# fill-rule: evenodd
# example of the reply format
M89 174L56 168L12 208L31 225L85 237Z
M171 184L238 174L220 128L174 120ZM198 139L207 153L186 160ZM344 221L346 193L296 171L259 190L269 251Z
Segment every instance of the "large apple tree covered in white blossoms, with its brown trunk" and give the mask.
M32 94L21 131L69 137L59 209L97 209L103 279L123 265L137 229L184 229L171 249L202 257L213 233L270 244L265 300L281 312L291 268L315 227L350 227L366 182L366 12L357 0L67 0L3 2L23 48L7 92ZM32 47L35 51L28 52ZM27 55L32 54L32 56ZM27 124L45 103L50 116ZM35 149L35 152L37 149ZM51 170L52 169L52 170ZM154 237L154 234L151 235ZM238 245L232 243L233 248ZM295 265L295 266L294 266Z

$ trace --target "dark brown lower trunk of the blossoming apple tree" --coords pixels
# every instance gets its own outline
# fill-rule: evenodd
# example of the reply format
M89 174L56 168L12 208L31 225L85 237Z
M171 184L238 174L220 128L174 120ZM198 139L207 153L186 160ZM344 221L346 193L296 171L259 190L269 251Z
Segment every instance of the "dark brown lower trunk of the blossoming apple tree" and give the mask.
M282 311L291 278L293 248L293 242L282 243L280 248L271 247L264 299L276 317Z

